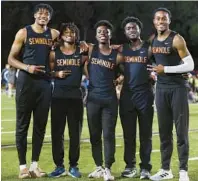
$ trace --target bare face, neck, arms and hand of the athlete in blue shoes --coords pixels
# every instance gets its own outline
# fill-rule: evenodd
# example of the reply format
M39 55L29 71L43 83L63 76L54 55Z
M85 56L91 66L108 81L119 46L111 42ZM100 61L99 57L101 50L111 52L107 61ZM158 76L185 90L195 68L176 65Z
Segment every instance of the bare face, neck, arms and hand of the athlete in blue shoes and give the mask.
M65 55L71 55L75 53L76 51L76 33L69 29L66 28L63 35L61 36L61 39L63 40L63 44L60 46L60 50L65 54ZM80 50L84 51L84 50ZM50 52L50 69L51 71L54 70L55 67L55 52L51 51ZM88 59L88 56L82 56L82 61L83 63ZM55 72L55 77L58 78L65 78L69 76L72 72L70 70L61 70Z

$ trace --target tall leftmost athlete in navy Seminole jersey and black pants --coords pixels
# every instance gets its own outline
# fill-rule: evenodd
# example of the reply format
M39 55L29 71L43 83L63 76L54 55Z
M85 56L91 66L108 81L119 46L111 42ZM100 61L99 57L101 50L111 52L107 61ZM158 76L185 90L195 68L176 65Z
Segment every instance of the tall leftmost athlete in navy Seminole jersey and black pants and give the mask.
M55 29L47 27L53 9L48 4L38 4L34 8L35 22L20 29L13 42L8 63L20 69L16 82L16 147L20 164L19 178L42 177L46 175L38 167L39 156L51 100L49 52L53 40L59 35ZM24 47L23 60L18 56ZM27 134L33 113L32 163L26 165Z

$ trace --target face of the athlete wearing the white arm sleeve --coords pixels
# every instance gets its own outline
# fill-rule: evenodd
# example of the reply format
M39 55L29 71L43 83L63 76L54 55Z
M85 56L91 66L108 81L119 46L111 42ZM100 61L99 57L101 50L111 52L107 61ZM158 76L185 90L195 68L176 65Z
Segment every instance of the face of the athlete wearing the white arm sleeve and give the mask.
M165 11L157 11L155 13L153 24L157 31L164 32L169 29L170 25L170 17L169 14Z

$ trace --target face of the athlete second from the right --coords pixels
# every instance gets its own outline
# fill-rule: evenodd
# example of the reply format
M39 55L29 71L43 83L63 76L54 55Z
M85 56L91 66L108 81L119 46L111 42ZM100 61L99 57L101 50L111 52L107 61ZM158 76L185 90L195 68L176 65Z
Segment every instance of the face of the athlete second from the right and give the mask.
M136 23L127 23L125 28L125 35L129 40L135 40L138 39L140 37L140 27L136 24Z

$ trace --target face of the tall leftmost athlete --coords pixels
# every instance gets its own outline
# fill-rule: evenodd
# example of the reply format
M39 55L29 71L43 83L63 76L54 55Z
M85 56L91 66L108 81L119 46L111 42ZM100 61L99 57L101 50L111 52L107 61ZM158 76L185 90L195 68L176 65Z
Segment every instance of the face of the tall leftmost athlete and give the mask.
M50 21L50 12L47 9L39 9L34 14L34 18L38 25L47 25Z

